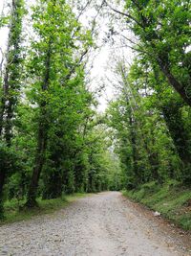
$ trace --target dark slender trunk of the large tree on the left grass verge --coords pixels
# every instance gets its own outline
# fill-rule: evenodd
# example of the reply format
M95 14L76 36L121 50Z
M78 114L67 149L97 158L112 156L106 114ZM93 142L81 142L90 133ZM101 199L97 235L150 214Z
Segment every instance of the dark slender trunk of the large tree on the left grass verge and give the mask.
M45 63L45 79L42 83L42 91L47 91L49 89L49 80L50 80L50 66L51 66L51 39L49 42L49 49L47 53L46 63ZM30 188L28 192L28 198L26 205L28 207L35 206L36 203L36 194L38 188L38 181L40 174L42 172L42 168L45 161L45 152L47 150L47 134L49 127L49 119L47 113L47 101L42 100L40 104L40 118L38 123L38 143L36 149L36 155L34 159L34 167L32 171L32 180L30 183Z

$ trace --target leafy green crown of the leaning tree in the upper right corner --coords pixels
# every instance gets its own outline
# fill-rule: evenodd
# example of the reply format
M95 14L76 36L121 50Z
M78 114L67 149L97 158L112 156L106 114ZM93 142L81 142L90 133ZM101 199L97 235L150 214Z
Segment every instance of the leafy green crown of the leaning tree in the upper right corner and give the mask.
M136 50L146 53L151 62L155 61L169 84L187 105L191 105L188 1L126 0L124 5L127 12L109 6L125 17L138 37Z

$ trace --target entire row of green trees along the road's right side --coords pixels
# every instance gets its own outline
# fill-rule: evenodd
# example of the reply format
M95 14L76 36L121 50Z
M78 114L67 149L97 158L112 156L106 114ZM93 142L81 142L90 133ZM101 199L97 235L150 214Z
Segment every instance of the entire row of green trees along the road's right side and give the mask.
M105 4L136 38L123 35L137 57L131 66L118 58L118 97L107 110L124 186L169 178L190 186L190 3L128 0L123 11Z

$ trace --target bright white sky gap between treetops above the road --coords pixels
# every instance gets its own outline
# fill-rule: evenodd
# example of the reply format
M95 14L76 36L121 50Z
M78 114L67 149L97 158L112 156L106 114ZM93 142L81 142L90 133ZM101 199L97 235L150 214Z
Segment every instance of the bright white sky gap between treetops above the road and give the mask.
M95 3L94 0L93 2ZM99 2L99 0L96 0L96 3L97 2ZM111 1L113 6L115 6L115 2L115 0ZM115 8L122 10L122 7L119 5ZM105 12L112 13L113 11L107 9ZM82 15L80 21L86 26L88 20L91 20L95 14L95 10L87 9L87 12ZM103 41L105 42L105 39L107 39L108 32L111 28L110 18L111 16L108 14L103 16L99 15L96 18L97 26L99 27L96 44L98 46L101 45L101 47L99 48L99 51L96 51L96 58L93 61L93 68L91 70L91 78L93 81L91 88L93 90L97 90L97 88L104 84L104 89L98 99L98 111L100 112L104 112L108 103L114 99L115 94L117 93L117 89L111 83L111 81L115 81L114 67L117 64L117 59L125 58L129 63L131 63L133 58L135 58L135 54L132 49L129 47L121 47L123 43L121 42L120 35L116 35L114 37L114 43L112 45L111 42L103 43ZM120 28L120 22L120 20L115 20L114 29L118 32L122 30L122 26ZM133 37L129 31L121 31L121 33L131 38ZM128 45L129 43L126 42L126 44Z

